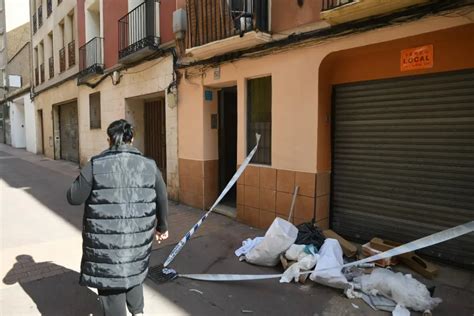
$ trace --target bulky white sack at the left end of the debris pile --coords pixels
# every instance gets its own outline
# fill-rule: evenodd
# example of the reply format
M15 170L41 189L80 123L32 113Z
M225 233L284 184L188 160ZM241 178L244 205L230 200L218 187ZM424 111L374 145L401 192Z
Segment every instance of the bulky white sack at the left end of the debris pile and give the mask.
M247 262L262 266L275 266L280 262L280 254L295 243L298 229L282 218L275 218L262 242L245 255Z

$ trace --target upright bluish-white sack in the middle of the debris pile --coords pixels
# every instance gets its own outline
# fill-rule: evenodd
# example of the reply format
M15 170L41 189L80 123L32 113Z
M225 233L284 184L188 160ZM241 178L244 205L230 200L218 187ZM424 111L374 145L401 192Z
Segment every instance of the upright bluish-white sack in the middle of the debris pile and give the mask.
M341 271L340 266L343 264L342 248L339 242L336 239L327 238L319 250L318 263L309 278L323 285L344 289L348 282ZM328 269L332 267L337 268Z

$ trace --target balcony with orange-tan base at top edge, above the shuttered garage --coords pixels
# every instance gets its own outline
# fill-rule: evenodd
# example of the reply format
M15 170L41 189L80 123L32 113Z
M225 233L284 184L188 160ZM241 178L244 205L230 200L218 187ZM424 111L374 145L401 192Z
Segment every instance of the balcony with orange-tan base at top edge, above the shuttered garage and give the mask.
M335 25L384 15L429 0L323 0L321 19Z

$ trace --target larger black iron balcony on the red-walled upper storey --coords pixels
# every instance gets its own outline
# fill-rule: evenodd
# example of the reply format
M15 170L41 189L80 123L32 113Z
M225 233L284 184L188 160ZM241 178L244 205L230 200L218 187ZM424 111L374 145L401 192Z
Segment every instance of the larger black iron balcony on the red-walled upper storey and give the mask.
M159 49L156 12L159 2L146 0L118 21L119 62L143 59Z

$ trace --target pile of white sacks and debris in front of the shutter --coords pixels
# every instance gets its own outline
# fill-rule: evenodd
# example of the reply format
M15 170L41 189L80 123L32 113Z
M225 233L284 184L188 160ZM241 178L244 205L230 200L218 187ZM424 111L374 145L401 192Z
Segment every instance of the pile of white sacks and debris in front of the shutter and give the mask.
M314 223L294 226L276 218L264 237L247 239L235 251L241 261L262 266L281 263L281 283L316 283L338 288L350 299L362 299L374 310L410 315L409 310L430 314L440 302L427 287L410 274L395 273L390 266L402 262L424 277L432 278L437 268L413 252L341 268L345 263L397 247L400 244L373 238L362 246L358 257L355 245L332 230L321 230ZM379 267L375 267L375 265Z

